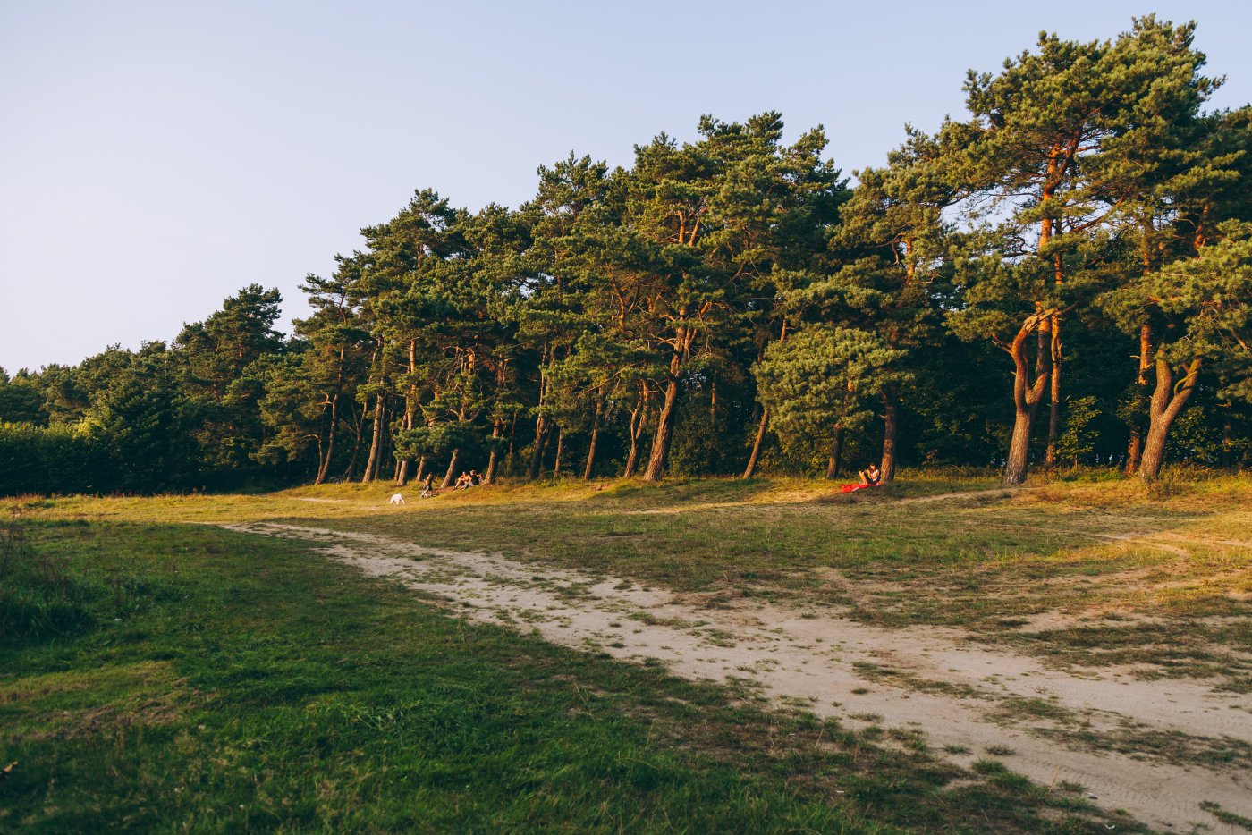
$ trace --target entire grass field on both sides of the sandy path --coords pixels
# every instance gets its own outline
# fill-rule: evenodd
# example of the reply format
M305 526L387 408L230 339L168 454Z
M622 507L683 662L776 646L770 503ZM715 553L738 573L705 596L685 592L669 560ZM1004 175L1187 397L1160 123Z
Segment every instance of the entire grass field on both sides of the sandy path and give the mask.
M412 492L401 508L391 492L0 506L0 767L16 761L0 827L1137 829L1080 786L1014 774L1012 752L945 751L869 715L466 621L308 542L222 523L500 552L536 578L675 592L710 618L759 603L959 628L1049 669L1252 690L1248 478L1005 493L977 474L916 477L846 497L826 482L562 482ZM861 666L915 699L939 686ZM997 710L1038 714L1075 751L1252 762L1246 740L1084 727L1043 701ZM1211 824L1242 826L1242 810L1197 800Z

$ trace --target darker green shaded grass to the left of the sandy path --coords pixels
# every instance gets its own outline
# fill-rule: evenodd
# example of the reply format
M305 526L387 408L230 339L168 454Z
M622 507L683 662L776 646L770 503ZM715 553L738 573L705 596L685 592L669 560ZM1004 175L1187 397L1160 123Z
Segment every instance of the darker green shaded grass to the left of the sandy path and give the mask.
M919 740L876 747L448 618L295 542L178 523L275 505L334 515L9 503L0 829L1103 831Z

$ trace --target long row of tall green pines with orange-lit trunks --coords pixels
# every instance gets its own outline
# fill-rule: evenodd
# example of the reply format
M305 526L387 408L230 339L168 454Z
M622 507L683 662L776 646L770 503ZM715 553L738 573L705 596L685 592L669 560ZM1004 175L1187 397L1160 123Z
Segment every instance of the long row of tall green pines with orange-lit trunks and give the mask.
M289 339L253 285L168 347L0 373L0 489L1243 466L1252 108L1204 110L1192 36L1042 35L855 187L766 113L571 154L517 209L418 192Z

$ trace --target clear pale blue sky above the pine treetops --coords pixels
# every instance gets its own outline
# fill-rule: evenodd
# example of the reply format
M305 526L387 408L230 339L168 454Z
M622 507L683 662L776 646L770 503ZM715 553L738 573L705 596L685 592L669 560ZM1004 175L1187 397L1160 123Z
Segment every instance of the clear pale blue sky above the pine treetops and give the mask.
M1199 23L1248 101L1252 3L0 0L0 366L170 339L239 287L300 315L362 225L432 187L517 205L571 150L629 164L702 113L824 124L845 172L963 111L1040 29Z

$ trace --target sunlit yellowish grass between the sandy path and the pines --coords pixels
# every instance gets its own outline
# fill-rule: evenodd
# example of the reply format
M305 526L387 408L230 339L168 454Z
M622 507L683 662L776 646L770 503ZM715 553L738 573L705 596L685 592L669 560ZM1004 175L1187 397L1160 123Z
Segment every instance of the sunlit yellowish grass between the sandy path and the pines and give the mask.
M163 512L317 517L696 592L706 606L755 597L834 607L885 627L954 626L1058 665L1219 676L1246 692L1252 478L1189 476L1146 488L1073 473L1008 492L992 477L906 474L850 496L826 481L566 481L459 491L396 511L382 507L391 487L353 484L170 499ZM970 494L911 501L959 491ZM1044 612L1072 622L1018 628Z

